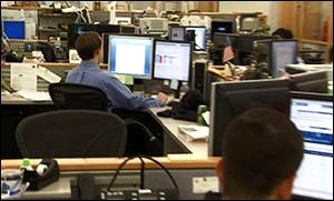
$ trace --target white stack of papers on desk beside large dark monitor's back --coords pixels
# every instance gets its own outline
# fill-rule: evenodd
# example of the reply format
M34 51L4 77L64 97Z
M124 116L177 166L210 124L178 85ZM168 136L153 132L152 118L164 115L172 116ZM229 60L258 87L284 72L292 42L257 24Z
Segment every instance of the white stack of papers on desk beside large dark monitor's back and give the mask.
M209 128L204 125L178 125L178 133L186 141L206 141L209 135Z

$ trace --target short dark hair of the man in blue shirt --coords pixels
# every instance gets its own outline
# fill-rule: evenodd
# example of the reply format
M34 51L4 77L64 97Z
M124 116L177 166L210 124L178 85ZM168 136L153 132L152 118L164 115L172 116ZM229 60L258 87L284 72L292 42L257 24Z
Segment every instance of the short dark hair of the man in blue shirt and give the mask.
M99 48L101 48L101 39L97 32L89 31L82 33L76 40L76 49L82 60L92 59L95 51Z

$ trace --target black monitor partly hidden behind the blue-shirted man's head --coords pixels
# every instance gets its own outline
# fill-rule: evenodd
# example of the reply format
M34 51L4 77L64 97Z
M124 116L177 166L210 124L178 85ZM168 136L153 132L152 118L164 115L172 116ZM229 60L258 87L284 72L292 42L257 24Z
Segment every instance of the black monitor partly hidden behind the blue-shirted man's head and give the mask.
M102 37L102 33L119 33L121 29L120 26L115 24L69 23L68 49L73 49L77 38L88 31L96 31Z

